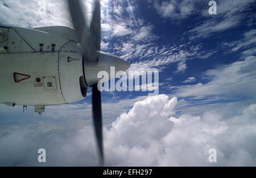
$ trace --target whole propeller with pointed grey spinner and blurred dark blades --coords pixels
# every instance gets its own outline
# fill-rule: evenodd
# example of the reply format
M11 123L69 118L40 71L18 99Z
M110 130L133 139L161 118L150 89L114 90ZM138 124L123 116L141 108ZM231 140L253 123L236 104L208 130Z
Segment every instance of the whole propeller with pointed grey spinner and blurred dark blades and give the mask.
M88 28L86 18L82 13L79 0L68 0L69 11L71 13L73 26L76 29L78 41L82 47L82 59L84 68L84 78L88 87L92 86L92 113L94 131L97 139L100 163L104 166L104 145L102 136L102 111L101 92L98 90L98 72L108 72L110 78L115 77L110 72L110 67L115 67L116 71L126 71L130 64L117 56L109 55L100 51L101 43L101 10L100 0L94 1L92 22ZM115 72L115 73L117 73ZM114 73L114 74L115 74ZM111 75L112 74L112 75Z

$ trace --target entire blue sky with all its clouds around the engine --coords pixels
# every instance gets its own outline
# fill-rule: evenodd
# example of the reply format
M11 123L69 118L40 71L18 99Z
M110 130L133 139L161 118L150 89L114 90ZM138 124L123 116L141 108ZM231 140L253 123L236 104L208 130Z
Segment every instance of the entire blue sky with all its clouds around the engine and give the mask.
M2 0L0 24L72 27L65 1L43 3L45 13L38 1ZM256 3L216 1L217 14L208 3L101 0L101 51L128 61L128 72L159 71L154 96L102 92L106 165L256 165ZM93 1L82 6L90 22ZM98 165L91 97L42 115L0 105L0 165Z

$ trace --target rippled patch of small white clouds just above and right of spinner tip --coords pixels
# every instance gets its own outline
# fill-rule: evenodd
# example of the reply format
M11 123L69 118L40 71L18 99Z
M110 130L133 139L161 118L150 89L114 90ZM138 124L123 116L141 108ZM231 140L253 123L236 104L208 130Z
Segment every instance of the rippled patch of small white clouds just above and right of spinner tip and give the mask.
M216 52L212 49L205 50L203 44L191 42L162 47L155 43L134 44L131 41L122 45L117 49L117 55L129 60L130 72L155 71L155 69L163 71L168 64L177 63L177 70L174 73L182 73L187 69L187 60L207 59Z

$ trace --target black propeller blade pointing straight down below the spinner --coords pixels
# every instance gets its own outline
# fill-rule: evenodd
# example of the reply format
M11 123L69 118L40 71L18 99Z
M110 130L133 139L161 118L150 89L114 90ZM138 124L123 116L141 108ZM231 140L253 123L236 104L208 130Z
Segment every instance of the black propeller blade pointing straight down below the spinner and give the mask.
M92 109L93 123L96 134L98 151L100 152L100 163L104 166L104 151L102 139L102 114L101 114L101 92L97 88L97 84L92 85Z

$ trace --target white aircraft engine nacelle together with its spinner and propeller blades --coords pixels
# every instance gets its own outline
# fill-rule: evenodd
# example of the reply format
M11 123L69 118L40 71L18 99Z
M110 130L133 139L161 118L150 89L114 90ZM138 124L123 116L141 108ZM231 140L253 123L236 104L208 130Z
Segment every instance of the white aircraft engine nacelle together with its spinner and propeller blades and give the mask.
M90 26L79 0L68 0L73 28L50 26L20 28L0 25L0 104L35 106L42 114L47 105L68 104L86 97L92 87L92 115L100 163L102 143L100 71L111 76L126 71L130 64L100 51L100 0L94 1Z

